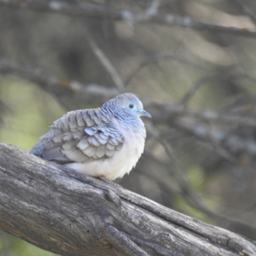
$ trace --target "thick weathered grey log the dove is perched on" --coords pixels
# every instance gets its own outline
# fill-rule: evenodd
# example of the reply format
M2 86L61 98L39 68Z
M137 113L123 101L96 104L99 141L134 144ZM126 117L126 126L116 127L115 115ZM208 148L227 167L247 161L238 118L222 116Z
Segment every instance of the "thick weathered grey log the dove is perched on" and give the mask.
M0 228L61 255L256 255L256 242L0 144Z

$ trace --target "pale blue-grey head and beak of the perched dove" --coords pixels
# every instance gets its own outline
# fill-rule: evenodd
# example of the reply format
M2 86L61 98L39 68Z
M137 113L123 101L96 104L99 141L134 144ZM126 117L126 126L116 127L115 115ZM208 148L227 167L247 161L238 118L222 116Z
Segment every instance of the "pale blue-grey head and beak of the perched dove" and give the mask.
M143 109L142 102L132 93L123 93L115 97L116 103L125 111L125 113L132 116L147 116L151 118L150 113Z

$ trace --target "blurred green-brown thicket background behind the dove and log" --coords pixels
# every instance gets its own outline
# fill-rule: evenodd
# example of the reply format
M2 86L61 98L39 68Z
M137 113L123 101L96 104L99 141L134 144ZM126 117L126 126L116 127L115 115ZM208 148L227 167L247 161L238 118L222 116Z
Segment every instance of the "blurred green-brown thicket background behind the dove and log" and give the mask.
M256 240L255 25L254 0L0 1L0 142L135 93L152 120L116 182ZM0 231L0 255L53 254Z

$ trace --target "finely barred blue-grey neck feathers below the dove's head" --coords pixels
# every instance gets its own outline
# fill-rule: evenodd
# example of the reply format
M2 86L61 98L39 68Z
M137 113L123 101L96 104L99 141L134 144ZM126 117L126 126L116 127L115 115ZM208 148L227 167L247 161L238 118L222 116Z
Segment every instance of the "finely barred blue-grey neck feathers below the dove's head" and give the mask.
M146 137L146 129L144 123L136 115L129 115L115 101L111 99L101 107L102 112L107 116L115 117L126 129L139 133Z

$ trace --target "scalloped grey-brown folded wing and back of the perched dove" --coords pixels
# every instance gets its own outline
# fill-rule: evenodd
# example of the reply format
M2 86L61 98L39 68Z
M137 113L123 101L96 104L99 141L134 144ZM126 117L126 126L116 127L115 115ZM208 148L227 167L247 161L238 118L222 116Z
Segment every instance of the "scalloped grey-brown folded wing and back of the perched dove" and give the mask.
M101 109L71 111L51 126L31 153L56 163L83 163L111 157L124 136Z

